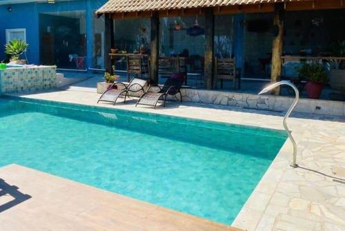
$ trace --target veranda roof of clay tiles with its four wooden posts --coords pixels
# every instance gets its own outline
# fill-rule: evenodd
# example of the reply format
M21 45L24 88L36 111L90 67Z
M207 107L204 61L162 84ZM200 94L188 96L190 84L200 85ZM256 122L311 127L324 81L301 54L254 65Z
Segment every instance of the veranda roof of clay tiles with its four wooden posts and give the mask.
M326 10L345 8L345 0L109 0L97 10L106 17L106 51L114 47L114 20L150 18L150 78L158 81L159 17L205 15L205 70L207 89L213 88L215 15L274 12L275 38L272 48L270 79L279 81L282 72L284 12L296 10ZM111 70L106 52L106 69ZM276 93L278 93L277 90Z

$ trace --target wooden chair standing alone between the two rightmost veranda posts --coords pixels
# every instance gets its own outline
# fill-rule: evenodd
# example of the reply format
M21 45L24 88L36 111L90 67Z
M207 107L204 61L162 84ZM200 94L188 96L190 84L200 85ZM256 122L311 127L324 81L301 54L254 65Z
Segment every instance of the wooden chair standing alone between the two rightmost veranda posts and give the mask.
M223 80L228 79L233 81L233 88L235 89L235 82L238 79L237 88L241 87L240 74L236 72L236 62L233 59L219 59L215 57L215 85L220 79L220 87L223 88Z

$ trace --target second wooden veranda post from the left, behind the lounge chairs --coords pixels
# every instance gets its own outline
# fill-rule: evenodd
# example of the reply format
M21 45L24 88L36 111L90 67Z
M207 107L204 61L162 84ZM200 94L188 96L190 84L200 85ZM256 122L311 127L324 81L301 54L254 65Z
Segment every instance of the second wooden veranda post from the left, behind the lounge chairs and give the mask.
M150 30L150 83L158 83L158 59L159 59L159 16L153 12L151 16Z

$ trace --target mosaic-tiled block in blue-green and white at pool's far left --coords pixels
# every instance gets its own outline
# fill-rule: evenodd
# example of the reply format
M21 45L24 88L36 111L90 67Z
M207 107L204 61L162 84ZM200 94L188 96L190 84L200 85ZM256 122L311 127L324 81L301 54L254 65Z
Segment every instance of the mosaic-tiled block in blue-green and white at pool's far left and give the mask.
M55 66L28 66L0 70L1 94L26 93L57 88Z

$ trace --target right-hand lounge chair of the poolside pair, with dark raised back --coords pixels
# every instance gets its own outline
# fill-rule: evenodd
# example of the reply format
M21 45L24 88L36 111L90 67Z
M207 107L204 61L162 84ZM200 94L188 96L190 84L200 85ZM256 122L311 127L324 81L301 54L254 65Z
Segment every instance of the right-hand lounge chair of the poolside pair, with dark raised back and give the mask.
M176 96L177 93L179 93L179 97L182 102L181 86L183 83L184 78L170 77L166 80L166 83L164 83L163 88L160 88L159 86L150 86L147 92L140 97L135 106L141 104L156 108L159 99L161 99L164 101L163 106L165 107L166 97L168 97L168 95ZM159 88L159 92L152 92L152 87Z

